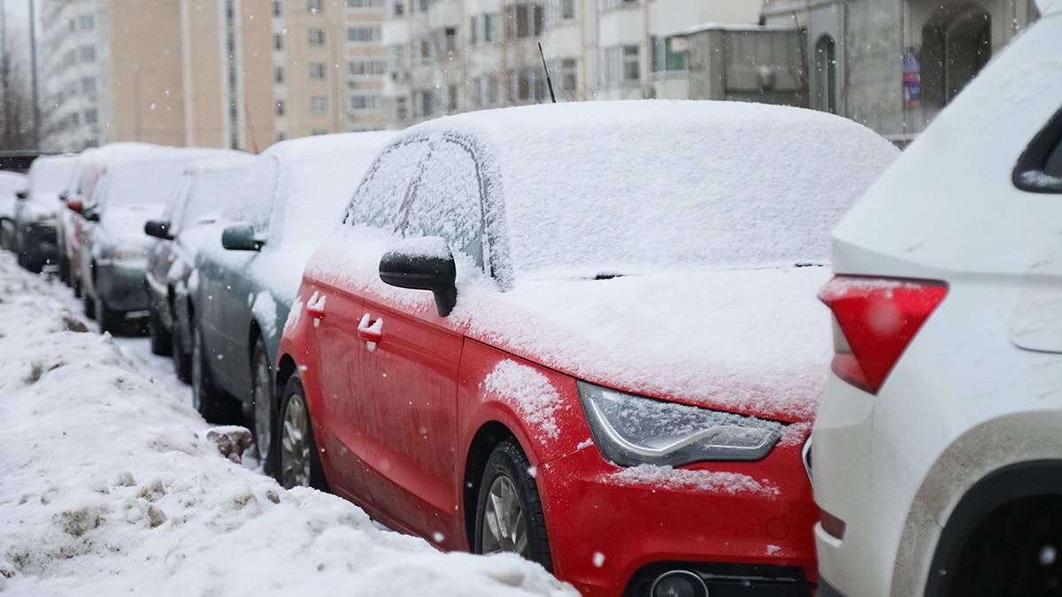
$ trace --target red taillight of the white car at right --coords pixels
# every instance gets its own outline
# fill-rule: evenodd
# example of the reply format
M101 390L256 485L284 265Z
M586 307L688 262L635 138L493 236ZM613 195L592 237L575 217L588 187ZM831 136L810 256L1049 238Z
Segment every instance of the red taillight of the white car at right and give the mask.
M834 373L876 394L947 286L920 279L836 276L819 292L834 312Z

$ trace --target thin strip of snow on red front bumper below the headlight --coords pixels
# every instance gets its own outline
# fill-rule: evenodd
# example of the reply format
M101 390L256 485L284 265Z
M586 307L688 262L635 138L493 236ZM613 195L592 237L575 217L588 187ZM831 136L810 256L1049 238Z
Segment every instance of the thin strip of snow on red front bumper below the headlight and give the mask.
M651 487L674 491L698 491L715 494L758 494L765 497L780 495L778 488L766 480L757 481L740 473L719 473L696 468L672 468L640 464L604 476L604 481L631 487Z

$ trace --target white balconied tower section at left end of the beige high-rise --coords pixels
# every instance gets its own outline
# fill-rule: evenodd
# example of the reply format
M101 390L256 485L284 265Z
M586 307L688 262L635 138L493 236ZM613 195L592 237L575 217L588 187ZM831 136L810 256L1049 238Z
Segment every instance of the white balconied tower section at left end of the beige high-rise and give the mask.
M45 0L40 6L41 102L53 149L108 142L113 120L108 27L100 0Z

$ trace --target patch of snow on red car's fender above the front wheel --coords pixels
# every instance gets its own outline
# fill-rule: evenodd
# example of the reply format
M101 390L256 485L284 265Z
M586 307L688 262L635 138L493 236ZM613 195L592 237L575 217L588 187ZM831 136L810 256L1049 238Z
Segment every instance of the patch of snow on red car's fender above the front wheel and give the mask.
M506 360L495 365L483 380L489 394L511 405L525 423L556 439L556 410L564 407L561 395L549 378L534 368Z

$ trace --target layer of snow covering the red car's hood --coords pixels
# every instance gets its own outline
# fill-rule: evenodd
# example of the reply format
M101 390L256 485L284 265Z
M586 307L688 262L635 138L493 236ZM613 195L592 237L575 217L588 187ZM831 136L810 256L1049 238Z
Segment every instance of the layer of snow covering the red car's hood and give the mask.
M580 379L809 421L833 352L828 268L543 280L468 304L468 336Z

